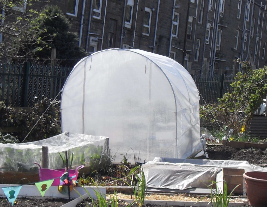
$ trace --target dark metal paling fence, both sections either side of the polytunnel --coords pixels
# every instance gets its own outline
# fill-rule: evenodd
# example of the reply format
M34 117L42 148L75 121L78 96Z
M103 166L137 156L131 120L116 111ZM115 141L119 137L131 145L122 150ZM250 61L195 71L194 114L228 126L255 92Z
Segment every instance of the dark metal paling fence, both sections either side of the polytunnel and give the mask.
M30 64L0 64L0 100L14 107L30 107L44 97L53 99L63 87L69 67ZM200 104L216 103L231 90L233 76L214 75L212 79L193 76L200 94ZM205 101L204 101L205 100Z

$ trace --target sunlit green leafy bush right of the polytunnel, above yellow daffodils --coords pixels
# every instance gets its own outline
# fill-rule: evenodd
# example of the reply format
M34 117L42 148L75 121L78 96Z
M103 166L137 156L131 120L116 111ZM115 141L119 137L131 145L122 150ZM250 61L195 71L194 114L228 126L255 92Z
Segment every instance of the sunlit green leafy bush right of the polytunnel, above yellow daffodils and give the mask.
M231 83L232 92L227 92L218 104L200 107L200 119L203 127L209 130L233 129L233 136L248 136L250 120L267 94L267 67L252 70L249 63L242 63L243 74L238 72ZM244 127L243 127L244 126Z

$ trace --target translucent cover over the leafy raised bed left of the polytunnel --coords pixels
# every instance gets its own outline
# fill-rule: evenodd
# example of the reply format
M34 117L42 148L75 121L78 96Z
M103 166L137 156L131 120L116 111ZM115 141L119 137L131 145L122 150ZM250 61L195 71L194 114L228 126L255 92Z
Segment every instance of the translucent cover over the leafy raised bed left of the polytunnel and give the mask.
M108 137L92 136L78 133L62 133L60 135L39 141L1 144L0 143L0 167L3 171L33 171L41 164L42 146L48 146L49 168L65 168L61 156L65 158L68 152L69 164L71 154L74 153L72 166L88 165L93 159L105 159L108 157ZM38 171L38 170L37 170Z

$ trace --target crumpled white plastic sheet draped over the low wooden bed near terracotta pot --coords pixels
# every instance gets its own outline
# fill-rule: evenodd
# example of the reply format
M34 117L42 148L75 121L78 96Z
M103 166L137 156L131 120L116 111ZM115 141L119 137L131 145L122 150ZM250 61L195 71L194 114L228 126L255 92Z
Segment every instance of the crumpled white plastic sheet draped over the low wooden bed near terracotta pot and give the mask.
M216 174L222 168L236 168L249 171L263 171L247 161L235 160L198 160L172 159L155 157L142 165L146 177L146 186L149 188L168 188L184 190L188 188L207 188L211 181L216 181Z

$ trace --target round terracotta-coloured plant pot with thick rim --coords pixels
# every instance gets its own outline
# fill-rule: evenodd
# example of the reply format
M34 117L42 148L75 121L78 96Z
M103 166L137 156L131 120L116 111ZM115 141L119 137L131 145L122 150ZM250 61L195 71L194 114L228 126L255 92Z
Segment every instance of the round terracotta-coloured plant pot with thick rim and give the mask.
M246 172L243 174L250 205L264 207L267 204L267 172Z

